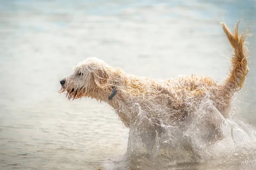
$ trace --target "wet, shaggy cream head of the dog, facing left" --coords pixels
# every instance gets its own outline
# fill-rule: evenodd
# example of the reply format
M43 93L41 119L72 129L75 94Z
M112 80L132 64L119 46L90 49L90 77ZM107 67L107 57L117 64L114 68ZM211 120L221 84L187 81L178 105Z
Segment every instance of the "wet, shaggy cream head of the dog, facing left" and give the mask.
M60 93L67 98L90 97L106 101L112 93L117 73L116 68L95 57L89 57L73 68L74 73L60 81Z

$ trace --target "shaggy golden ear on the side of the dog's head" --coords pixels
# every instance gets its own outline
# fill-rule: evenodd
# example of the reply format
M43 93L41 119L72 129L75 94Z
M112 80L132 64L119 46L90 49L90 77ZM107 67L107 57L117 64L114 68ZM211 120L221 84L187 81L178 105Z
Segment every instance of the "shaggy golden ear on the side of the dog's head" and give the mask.
M108 73L106 73L101 69L97 69L93 73L93 81L96 83L96 85L98 85L101 88L108 86L108 80L109 80Z

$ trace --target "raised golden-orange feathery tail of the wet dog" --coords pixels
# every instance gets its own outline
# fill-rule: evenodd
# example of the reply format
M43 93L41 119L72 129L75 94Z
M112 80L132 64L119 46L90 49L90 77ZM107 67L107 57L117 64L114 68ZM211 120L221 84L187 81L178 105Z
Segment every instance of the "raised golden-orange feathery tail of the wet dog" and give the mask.
M244 80L248 74L247 57L249 57L249 51L244 45L244 40L249 34L247 34L247 29L241 35L238 34L239 23L240 21L237 23L233 33L225 23L221 23L227 39L233 47L229 77L224 82L224 88L229 93L239 91L243 87Z

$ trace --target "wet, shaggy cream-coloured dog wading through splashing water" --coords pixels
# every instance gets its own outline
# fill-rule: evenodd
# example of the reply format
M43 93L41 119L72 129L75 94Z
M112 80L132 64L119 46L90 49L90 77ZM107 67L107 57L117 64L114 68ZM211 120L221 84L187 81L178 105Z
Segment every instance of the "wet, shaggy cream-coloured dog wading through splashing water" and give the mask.
M245 39L249 35L247 29L239 35L239 22L232 33L225 23L221 23L227 40L233 48L230 72L221 85L211 77L200 75L184 76L178 79L155 80L127 74L120 68L111 67L104 61L89 57L74 67L74 73L60 81L60 93L67 98L92 98L110 105L125 127L131 127L138 120L143 109L146 120L140 126L142 141L153 148L160 124L174 125L188 119L197 109L206 94L224 118L230 117L233 96L244 84L247 77L247 57L249 51ZM154 122L153 124L151 122ZM218 134L221 140L221 122L209 121L209 127ZM143 131L145 128L151 130ZM155 133L153 133L155 132ZM144 136L144 137L143 137Z

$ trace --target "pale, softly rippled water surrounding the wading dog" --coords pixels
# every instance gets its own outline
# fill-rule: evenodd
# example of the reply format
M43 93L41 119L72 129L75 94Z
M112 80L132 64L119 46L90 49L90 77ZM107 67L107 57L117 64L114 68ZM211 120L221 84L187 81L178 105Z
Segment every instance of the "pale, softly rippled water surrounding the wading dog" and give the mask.
M226 120L229 137L198 150L201 164L174 164L162 157L152 165L136 156L133 160L142 163L131 162L125 152L135 147L129 142L131 137L137 141L136 135L128 142L129 130L108 105L90 99L68 102L57 93L59 80L88 56L138 76L164 79L193 73L221 81L231 47L219 22L233 27L241 18L240 30L251 26L254 34L247 39L250 71L237 95L234 118ZM161 164L178 170L256 169L255 23L253 0L1 0L0 169L125 169L131 163L134 169L160 169ZM231 129L237 136L231 136ZM189 147L201 146L199 139L200 133ZM185 156L183 150L170 154Z

